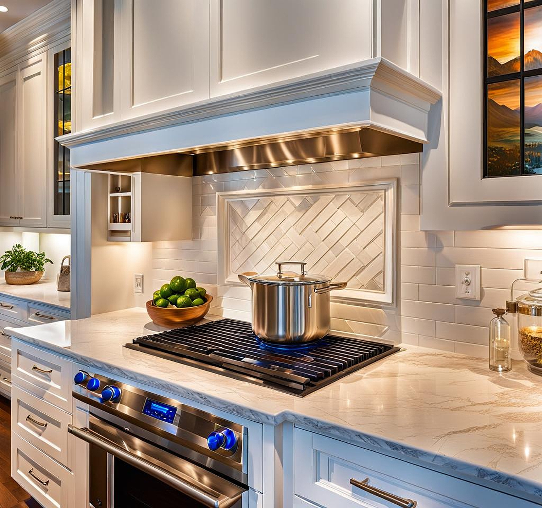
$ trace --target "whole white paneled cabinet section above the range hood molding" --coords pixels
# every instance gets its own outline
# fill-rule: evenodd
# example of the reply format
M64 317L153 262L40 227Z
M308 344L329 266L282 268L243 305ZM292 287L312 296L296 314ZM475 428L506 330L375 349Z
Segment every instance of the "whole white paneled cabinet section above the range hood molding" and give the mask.
M75 0L75 131L383 56L417 74L408 0Z

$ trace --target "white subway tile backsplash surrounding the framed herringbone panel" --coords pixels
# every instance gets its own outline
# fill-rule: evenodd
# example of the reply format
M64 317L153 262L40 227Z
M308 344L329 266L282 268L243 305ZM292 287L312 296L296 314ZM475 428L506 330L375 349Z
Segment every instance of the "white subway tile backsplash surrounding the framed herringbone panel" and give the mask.
M153 244L153 284L159 287L177 273L192 276L205 285L210 294L216 295L212 313L250 320L249 288L216 286L216 193L299 185L345 185L388 177L398 178L400 186L397 236L401 265L398 267L398 298L401 301L397 307L332 301L333 329L487 357L491 309L504 306L512 281L522 276L524 259L542 257L542 231L420 232L418 153L194 177L194 237L190 241ZM349 218L348 214L330 217L328 236L341 227L345 218ZM270 237L260 248L269 250L277 241ZM279 247L288 249L286 244ZM317 249L318 241L307 245L303 252L306 251L308 259ZM326 263L333 262L337 255L340 255L338 246L322 261L324 273ZM455 298L456 264L481 265L480 301Z

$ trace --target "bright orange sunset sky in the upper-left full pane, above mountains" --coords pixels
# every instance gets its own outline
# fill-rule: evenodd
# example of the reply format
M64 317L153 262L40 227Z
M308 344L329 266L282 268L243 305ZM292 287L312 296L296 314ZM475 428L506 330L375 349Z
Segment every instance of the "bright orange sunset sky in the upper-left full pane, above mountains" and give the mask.
M519 12L487 20L487 53L500 63L519 56Z

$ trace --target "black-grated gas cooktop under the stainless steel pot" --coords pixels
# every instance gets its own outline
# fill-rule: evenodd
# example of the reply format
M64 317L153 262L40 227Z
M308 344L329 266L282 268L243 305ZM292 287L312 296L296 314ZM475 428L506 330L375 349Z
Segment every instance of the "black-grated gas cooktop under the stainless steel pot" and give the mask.
M235 319L138 337L125 347L299 396L399 351L333 335L308 345L272 346L254 335L250 323Z

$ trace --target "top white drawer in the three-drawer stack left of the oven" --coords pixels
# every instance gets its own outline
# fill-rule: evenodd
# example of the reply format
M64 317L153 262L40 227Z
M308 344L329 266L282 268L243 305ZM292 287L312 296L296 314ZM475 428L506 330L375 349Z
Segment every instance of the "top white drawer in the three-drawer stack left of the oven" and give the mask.
M71 414L72 363L20 340L11 347L13 383Z

